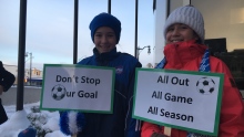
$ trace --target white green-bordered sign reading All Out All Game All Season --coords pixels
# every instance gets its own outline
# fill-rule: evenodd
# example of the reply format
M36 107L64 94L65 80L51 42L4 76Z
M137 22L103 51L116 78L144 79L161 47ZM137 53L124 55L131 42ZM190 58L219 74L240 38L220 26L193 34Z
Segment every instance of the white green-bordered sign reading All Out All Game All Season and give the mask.
M223 74L138 68L133 117L216 135Z

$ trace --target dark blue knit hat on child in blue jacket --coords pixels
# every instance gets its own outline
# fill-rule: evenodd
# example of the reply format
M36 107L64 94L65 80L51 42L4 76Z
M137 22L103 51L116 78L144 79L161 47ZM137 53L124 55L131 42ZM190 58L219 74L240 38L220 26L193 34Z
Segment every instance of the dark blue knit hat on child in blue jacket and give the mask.
M90 23L90 30L91 30L91 39L94 42L94 33L98 28L100 27L109 27L113 29L115 35L116 35L116 43L120 41L120 32L121 32L121 23L120 20L118 20L115 17L109 13L100 13L96 17L93 18L93 20Z

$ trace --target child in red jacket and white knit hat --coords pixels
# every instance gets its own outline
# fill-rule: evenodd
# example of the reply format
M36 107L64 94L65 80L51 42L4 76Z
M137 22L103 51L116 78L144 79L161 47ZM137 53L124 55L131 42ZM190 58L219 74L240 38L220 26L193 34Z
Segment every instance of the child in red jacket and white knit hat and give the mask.
M244 137L244 107L242 96L228 67L211 56L204 45L204 20L201 12L185 6L175 9L166 19L164 36L165 57L156 68L223 73L223 96L218 125L218 137ZM194 110L194 109L193 109ZM143 122L142 137L164 137L164 126ZM181 129L171 129L171 137L207 137Z

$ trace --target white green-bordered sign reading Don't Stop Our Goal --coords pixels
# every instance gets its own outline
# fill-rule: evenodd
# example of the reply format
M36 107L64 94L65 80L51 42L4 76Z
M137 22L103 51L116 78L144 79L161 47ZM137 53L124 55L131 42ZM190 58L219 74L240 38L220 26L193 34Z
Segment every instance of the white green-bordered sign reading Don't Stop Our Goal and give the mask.
M112 113L112 67L44 64L41 109Z

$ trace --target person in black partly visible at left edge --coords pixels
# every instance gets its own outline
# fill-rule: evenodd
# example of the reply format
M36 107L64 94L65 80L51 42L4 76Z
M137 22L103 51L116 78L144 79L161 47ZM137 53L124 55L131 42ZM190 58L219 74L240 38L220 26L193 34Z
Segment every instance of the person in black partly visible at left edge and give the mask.
M6 71L6 68L2 65L2 62L0 61L0 95L2 92L7 92L11 85L14 83L16 77L12 73ZM2 106L1 98L0 98L0 125L8 120L8 116L6 114L6 110Z

